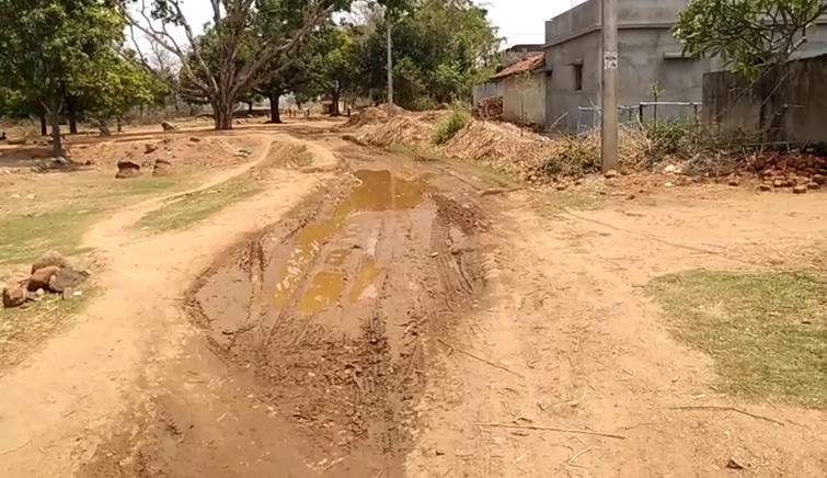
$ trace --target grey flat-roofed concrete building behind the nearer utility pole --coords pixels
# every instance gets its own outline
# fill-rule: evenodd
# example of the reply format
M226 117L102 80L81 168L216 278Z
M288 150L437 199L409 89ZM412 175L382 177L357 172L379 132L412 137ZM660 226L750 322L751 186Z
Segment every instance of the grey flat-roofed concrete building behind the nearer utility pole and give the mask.
M703 73L722 68L716 58L681 55L671 27L687 0L618 0L618 103L621 121L641 102L701 103ZM827 52L823 25L807 34L797 56ZM601 59L600 0L588 0L545 22L545 124L576 132L599 124ZM659 117L694 114L693 106L659 106ZM651 120L652 107L644 115Z

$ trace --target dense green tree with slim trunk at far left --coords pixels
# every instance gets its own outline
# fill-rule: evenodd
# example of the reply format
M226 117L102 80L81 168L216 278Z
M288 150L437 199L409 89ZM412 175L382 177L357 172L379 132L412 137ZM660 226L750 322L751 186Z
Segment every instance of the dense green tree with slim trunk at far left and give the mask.
M123 36L123 21L96 0L0 0L0 86L37 102L62 156L60 111L79 78L102 68ZM31 104L31 103L30 103Z

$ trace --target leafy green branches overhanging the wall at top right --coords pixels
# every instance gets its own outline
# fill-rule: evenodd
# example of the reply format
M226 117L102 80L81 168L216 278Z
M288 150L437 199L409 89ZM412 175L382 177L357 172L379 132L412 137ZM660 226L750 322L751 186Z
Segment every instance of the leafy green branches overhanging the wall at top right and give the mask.
M720 56L754 77L766 65L786 61L824 13L824 0L691 0L673 33L690 57Z

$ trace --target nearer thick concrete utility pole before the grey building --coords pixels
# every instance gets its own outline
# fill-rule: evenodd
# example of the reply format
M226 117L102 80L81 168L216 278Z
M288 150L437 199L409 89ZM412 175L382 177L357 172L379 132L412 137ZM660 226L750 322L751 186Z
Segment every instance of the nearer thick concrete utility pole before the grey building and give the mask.
M600 169L618 169L618 0L601 0L604 73L600 115Z

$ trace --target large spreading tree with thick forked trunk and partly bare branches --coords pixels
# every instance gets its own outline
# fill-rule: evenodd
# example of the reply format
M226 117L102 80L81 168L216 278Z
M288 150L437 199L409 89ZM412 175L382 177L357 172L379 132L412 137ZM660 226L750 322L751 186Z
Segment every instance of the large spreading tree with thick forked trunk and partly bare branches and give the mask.
M205 57L202 42L181 10L182 0L146 0L136 9L122 8L129 25L181 60L186 80L213 106L216 129L232 128L232 110L261 79L274 59L289 55L313 29L347 0L210 0L217 58ZM142 19L142 20L139 20ZM161 26L156 26L157 22ZM168 25L181 27L187 45L181 45ZM138 49L139 58L145 59ZM148 61L143 66L151 68Z

